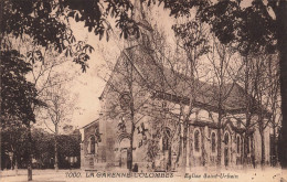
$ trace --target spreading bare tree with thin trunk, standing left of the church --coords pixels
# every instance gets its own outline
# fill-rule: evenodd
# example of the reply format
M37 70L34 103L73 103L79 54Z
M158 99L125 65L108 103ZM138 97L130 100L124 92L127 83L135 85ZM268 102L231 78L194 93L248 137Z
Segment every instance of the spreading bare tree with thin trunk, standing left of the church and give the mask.
M64 54L53 51L53 47L43 49L34 45L29 39L22 40L22 51L26 53L26 61L31 63L32 71L29 79L38 89L38 99L42 106L34 106L36 126L49 128L55 133L55 170L57 171L57 135L59 126L64 122L73 111L74 105L71 103L71 93L64 87L65 84L74 79L79 72L73 68L62 72L62 66L71 66L72 57L83 54L88 49L84 42L71 45ZM86 47L85 47L86 46ZM77 49L76 49L77 47ZM84 51L85 52L85 51ZM75 54L75 55L72 55ZM71 56L71 57L67 57ZM66 97L66 98L65 98ZM68 108L70 107L70 108ZM50 119L47 119L47 117ZM54 129L49 126L49 120L54 125Z

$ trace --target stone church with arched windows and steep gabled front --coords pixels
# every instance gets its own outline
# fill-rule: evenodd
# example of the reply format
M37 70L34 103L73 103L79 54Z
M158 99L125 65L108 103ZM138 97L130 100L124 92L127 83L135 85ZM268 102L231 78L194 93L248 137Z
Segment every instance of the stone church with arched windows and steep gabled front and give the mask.
M198 79L193 86L187 84L190 77L162 66L155 58L147 47L147 36L148 33L142 34L141 41L123 50L99 97L100 117L82 128L81 168L131 169L137 164L141 170L177 171L183 161L184 168L215 167L216 163L236 168L243 160L256 165L262 159L262 139L268 163L270 128L265 128L262 138L256 125L244 127L243 88L236 83L223 86L230 94L223 103L224 117L219 125L214 97L217 87ZM190 97L189 93L196 94ZM184 130L181 108L188 106L191 98L193 109ZM256 116L252 124L255 121ZM183 132L185 142L181 142ZM246 133L248 137L244 140ZM217 161L219 151L221 161Z

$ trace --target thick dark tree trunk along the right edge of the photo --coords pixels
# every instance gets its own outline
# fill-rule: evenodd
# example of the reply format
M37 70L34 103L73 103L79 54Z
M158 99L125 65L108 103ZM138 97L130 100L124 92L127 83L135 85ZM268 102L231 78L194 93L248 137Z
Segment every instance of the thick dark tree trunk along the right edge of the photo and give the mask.
M280 163L287 168L287 1L280 0L277 8L277 39L280 64L280 93L281 93L281 141L280 141Z

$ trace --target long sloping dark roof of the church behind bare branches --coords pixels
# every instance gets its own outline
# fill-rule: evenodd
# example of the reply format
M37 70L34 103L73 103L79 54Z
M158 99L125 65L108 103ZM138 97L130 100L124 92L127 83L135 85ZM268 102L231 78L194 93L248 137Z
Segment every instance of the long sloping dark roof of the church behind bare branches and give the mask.
M153 55L152 51L145 49L142 45L136 45L125 49L120 57L132 63L136 72L142 78L142 84L148 86L155 97L176 103L183 101L183 104L188 105L190 94L193 93L195 107L217 111L220 94L217 85L194 79L193 86L191 86L189 76L160 65ZM121 58L118 58L118 61ZM100 98L106 92L105 89ZM246 108L245 93L238 84L224 84L222 93L225 95L225 98L223 98L224 111L234 114L244 111L244 108Z

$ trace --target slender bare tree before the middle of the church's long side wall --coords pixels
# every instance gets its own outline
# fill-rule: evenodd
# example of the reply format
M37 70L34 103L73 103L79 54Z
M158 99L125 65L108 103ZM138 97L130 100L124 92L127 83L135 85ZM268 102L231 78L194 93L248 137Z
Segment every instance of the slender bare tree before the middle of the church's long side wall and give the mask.
M234 67L235 51L231 45L224 45L213 35L212 51L208 54L208 60L211 63L213 85L216 90L213 92L213 100L216 103L219 116L215 122L217 129L217 168L221 167L222 159L222 130L223 119L226 118L230 111L226 108L226 100L231 96L232 89L237 82L238 72L242 67ZM236 60L236 58L235 58ZM211 115L212 116L212 115ZM212 118L213 119L213 118Z

